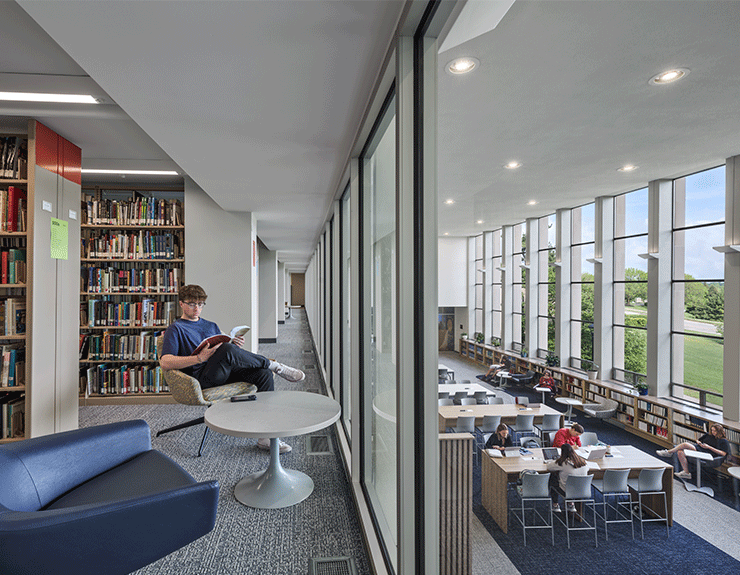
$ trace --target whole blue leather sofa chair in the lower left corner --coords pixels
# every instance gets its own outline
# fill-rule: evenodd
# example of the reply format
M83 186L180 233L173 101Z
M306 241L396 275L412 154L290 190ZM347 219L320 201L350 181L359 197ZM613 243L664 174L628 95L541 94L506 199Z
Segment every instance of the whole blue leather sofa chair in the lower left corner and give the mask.
M0 445L0 573L130 573L211 531L217 503L142 420Z

